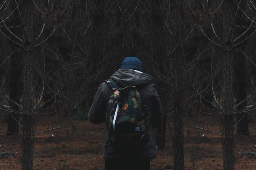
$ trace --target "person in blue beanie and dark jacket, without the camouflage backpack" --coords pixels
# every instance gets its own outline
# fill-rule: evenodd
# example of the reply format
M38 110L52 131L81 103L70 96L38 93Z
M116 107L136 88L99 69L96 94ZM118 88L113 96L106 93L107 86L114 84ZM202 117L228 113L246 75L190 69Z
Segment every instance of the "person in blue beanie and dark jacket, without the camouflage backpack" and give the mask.
M108 137L108 122L106 108L112 89L106 82L100 84L94 102L89 111L89 120L94 124L105 122L103 136L103 159L106 170L149 170L150 159L156 157L155 135L153 128L162 124L163 112L159 101L153 77L142 73L142 66L136 57L126 57L121 63L121 69L111 77L121 88L136 86L143 101L146 119L146 144L141 148L115 148Z

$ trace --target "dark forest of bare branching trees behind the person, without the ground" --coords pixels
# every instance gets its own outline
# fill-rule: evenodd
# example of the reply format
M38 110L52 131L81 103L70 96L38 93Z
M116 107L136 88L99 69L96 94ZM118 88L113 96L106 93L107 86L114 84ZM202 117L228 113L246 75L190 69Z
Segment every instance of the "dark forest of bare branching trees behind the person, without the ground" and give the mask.
M234 134L252 133L254 119L255 16L254 0L1 0L1 116L7 135L22 134L22 170L33 168L37 115L86 119L126 56L143 62L173 119L173 169L184 169L193 107L219 115L223 169L234 170Z

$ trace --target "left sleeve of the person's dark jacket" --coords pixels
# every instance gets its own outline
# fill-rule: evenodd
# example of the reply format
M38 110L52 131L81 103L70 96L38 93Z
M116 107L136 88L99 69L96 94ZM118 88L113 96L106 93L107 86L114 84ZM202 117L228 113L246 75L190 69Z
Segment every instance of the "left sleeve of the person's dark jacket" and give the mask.
M94 100L89 115L89 121L93 124L100 124L106 120L105 112L107 107L108 98L110 94L110 88L103 82L99 85L98 91L94 96Z

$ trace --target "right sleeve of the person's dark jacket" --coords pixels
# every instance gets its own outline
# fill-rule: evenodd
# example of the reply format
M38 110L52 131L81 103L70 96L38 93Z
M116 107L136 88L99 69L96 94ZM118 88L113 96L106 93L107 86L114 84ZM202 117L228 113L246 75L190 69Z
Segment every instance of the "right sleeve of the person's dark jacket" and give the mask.
M153 104L152 104L151 123L153 128L158 128L163 124L164 113L163 113L159 95L157 94L157 90L155 86L154 86L153 92L154 92L154 98L153 98Z

